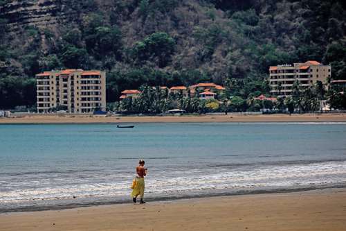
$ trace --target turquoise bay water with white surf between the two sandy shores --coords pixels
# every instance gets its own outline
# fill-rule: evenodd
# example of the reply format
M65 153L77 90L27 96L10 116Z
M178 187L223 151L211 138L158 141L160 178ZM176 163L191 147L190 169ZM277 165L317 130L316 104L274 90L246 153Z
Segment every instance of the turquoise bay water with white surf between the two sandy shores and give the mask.
M134 125L0 125L0 212L346 185L346 123Z

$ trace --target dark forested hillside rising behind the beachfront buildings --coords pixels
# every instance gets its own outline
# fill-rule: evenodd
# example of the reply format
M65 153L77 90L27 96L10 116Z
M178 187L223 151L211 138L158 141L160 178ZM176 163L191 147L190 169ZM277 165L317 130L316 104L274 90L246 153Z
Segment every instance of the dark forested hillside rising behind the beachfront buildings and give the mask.
M0 108L34 105L35 74L107 71L107 101L140 85L269 93L268 66L317 60L346 78L343 0L0 1ZM240 87L239 87L240 86Z

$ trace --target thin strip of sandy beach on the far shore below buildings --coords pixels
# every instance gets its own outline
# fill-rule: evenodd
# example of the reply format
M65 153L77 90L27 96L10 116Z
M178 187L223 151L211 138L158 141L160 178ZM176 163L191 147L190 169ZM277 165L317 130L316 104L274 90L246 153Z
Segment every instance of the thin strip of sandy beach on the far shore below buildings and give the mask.
M96 115L26 115L0 118L1 123L171 123L171 122L346 122L346 114L259 114L201 116L96 116Z

